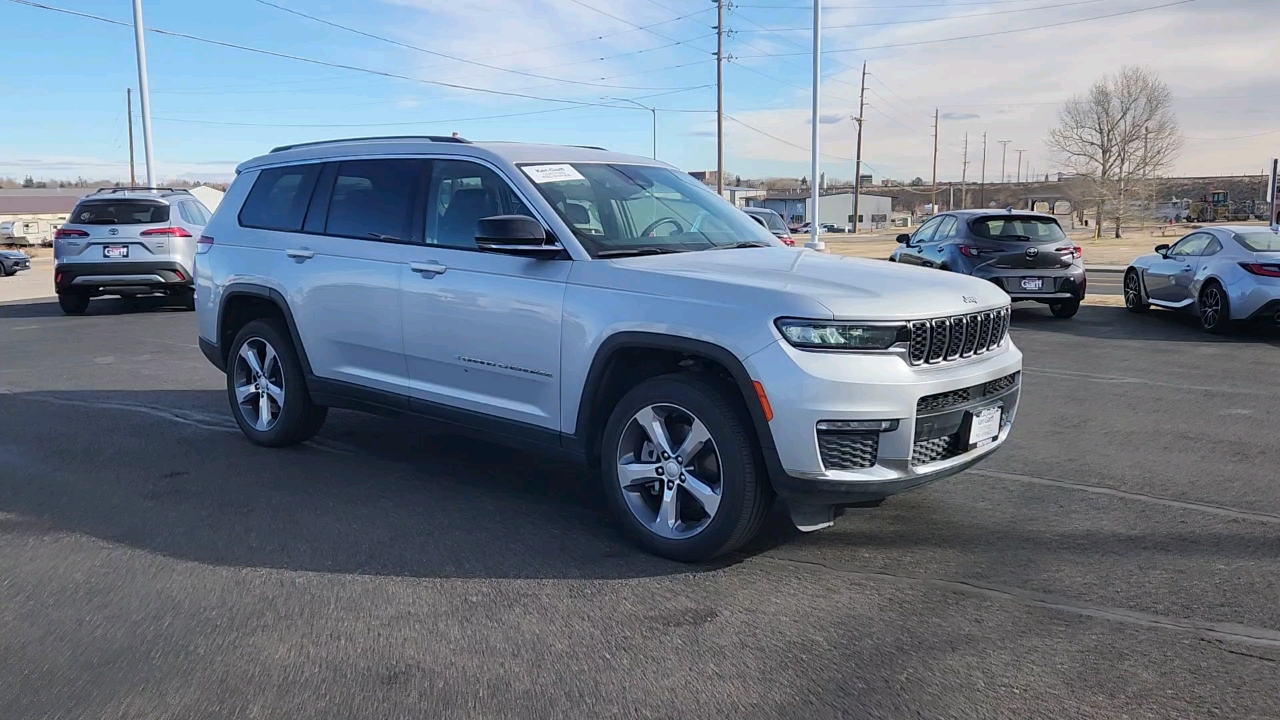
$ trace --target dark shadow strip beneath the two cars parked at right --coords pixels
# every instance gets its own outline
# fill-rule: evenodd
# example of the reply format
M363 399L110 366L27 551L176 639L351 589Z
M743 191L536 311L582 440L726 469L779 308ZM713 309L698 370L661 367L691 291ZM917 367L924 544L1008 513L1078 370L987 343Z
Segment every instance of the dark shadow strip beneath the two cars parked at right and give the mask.
M1084 306L1076 316L1064 320L1042 306L1014 305L1012 331L1015 342L1018 331L1036 331L1100 340L1280 343L1275 325L1242 323L1224 334L1210 334L1188 313L1156 309L1130 313L1124 307Z

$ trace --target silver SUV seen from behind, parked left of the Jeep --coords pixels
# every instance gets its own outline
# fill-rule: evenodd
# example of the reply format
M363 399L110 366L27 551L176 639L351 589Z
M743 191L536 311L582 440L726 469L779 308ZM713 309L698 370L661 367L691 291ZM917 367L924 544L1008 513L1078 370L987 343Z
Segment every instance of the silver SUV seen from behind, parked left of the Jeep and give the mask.
M186 190L108 187L54 233L54 290L78 315L92 297L168 295L195 307L192 265L209 209Z

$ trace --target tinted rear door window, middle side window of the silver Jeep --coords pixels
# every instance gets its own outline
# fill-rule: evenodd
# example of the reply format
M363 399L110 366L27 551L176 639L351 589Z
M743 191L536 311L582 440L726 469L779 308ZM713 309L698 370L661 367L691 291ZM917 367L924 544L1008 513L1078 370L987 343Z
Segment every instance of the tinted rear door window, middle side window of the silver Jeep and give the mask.
M325 234L411 242L421 160L352 160L338 165Z

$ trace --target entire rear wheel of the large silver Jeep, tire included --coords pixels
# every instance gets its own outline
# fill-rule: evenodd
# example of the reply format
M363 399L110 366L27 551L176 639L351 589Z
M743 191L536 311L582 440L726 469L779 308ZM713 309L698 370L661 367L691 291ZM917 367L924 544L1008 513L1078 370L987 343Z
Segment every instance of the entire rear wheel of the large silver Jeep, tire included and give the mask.
M298 352L275 320L253 320L236 334L227 356L227 398L244 437L264 447L311 438L329 413L311 402Z

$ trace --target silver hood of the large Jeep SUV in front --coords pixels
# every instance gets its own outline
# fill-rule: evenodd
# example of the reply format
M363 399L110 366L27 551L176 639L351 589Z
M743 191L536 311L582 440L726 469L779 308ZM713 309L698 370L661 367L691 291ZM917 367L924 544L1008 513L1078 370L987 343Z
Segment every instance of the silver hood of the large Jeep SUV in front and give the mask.
M909 320L1009 305L993 283L915 268L788 247L704 250L613 260L643 273L804 296L836 319Z

